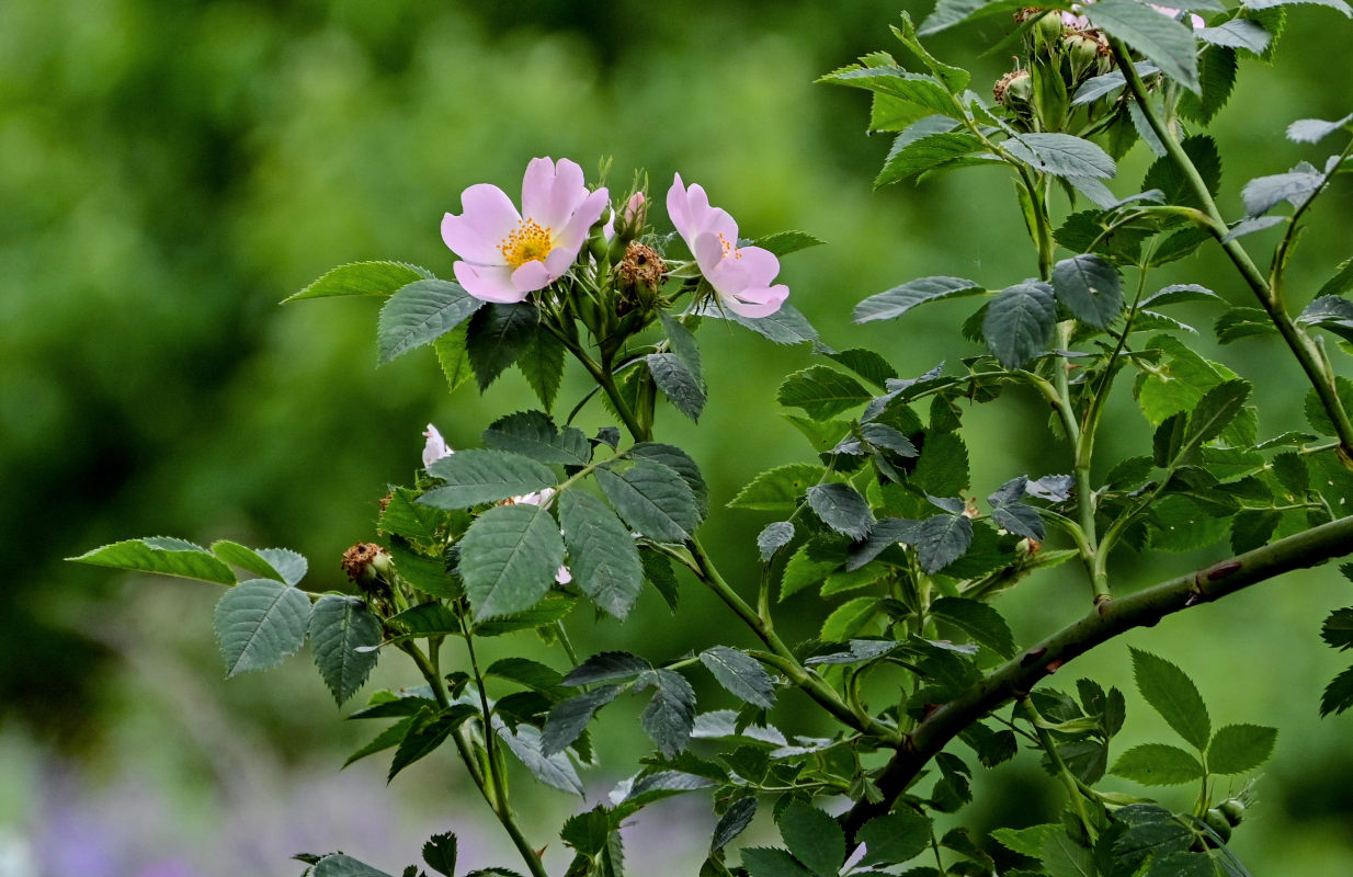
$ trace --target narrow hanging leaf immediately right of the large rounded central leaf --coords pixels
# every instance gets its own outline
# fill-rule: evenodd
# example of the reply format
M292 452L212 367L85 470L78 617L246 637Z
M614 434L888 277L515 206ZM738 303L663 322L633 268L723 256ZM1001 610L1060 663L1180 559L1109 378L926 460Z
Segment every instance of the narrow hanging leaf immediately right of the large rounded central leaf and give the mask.
M580 490L560 494L559 524L574 582L597 606L624 621L644 583L633 536L601 499Z

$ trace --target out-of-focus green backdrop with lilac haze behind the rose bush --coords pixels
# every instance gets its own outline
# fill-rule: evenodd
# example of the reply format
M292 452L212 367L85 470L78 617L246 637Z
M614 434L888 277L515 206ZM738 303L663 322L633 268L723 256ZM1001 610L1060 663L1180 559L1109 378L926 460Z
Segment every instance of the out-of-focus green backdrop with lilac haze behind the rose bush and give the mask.
M471 387L448 398L428 351L377 372L375 302L276 303L363 258L449 276L441 214L459 211L472 183L515 192L533 156L584 168L609 156L613 189L645 168L659 195L681 171L748 235L825 238L831 246L786 260L782 277L836 346L878 346L904 375L970 355L957 333L963 303L897 323L848 321L855 302L912 277L1000 287L1035 269L1000 172L875 194L888 141L863 134L866 96L813 84L886 46L897 12L863 0L0 3L0 525L9 552L0 877L290 874L300 870L285 862L291 853L336 847L394 870L445 827L461 831L469 863L503 850L448 759L388 789L382 765L340 774L367 728L341 723L307 656L223 682L214 587L61 558L131 536L230 537L302 551L311 587L341 587L338 555L369 537L386 485L411 478L423 424L471 445L497 414L532 399L515 374L486 398ZM1350 110L1348 23L1329 9L1289 18L1276 65L1245 62L1216 125L1223 210L1234 215L1243 180L1323 158L1284 141L1289 120ZM1007 60L976 55L1007 28L988 20L935 50L974 64L976 83L993 81ZM1137 191L1147 161L1139 146L1123 162L1120 194ZM1350 254L1350 215L1342 184L1315 211L1293 290L1314 290ZM1250 241L1257 252L1270 245ZM1249 303L1210 256L1158 280L1200 282ZM1188 318L1203 329L1196 344L1215 349L1212 314ZM702 344L712 397L700 428L668 409L659 429L700 460L717 509L762 468L808 457L773 394L809 353L717 322ZM1276 342L1246 340L1219 356L1258 383L1264 434L1300 428L1302 384ZM574 376L563 405L582 390ZM1130 399L1112 417L1105 468L1147 436ZM595 406L583 418L603 420ZM969 424L974 493L1066 468L1050 456L1034 399L973 410ZM764 522L716 510L708 539L735 581L754 572L751 540ZM1149 582L1223 552L1120 563ZM1214 724L1281 728L1261 805L1234 843L1256 874L1353 866L1350 720L1315 717L1321 688L1341 669L1318 643L1319 623L1349 590L1333 568L1316 570L1127 637L1195 671ZM706 595L687 589L683 600L676 624L649 593L625 628L583 620L576 633L584 648L644 643L655 658L743 642ZM796 601L786 624L806 636L824 605ZM1001 609L1028 640L1084 605L1073 571L1026 583ZM1168 736L1132 690L1126 643L1062 673L1068 683L1093 674L1128 692L1123 746ZM394 660L379 677L410 681ZM786 706L790 724L804 721L796 706ZM625 709L603 728L632 759L640 743L626 736ZM595 771L594 796L630 763ZM528 782L518 797L544 842L575 803L533 794ZM990 792L963 813L980 828L1027 824L1059 805L1028 757L981 782ZM1185 808L1189 794L1161 799ZM637 823L635 873L689 874L713 817L701 800Z

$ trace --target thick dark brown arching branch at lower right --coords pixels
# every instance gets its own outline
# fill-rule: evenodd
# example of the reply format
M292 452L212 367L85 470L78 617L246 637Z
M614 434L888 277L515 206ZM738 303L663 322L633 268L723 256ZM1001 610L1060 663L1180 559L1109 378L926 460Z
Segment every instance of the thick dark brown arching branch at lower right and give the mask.
M1151 627L1181 609L1350 552L1353 517L1345 517L1101 604L1005 662L916 725L878 777L882 800L877 804L862 800L842 816L847 838L854 842L866 822L890 811L916 774L961 731L1011 700L1024 697L1040 679L1077 655L1132 628Z

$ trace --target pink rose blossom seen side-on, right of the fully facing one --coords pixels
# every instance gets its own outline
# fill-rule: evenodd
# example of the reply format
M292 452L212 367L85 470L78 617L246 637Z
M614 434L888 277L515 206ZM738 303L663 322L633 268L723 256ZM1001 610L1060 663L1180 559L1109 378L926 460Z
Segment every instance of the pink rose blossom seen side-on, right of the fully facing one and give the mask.
M733 218L710 207L700 185L686 188L679 173L667 189L667 215L724 307L741 317L769 317L789 298L787 286L770 284L779 273L775 254L760 246L737 246Z

